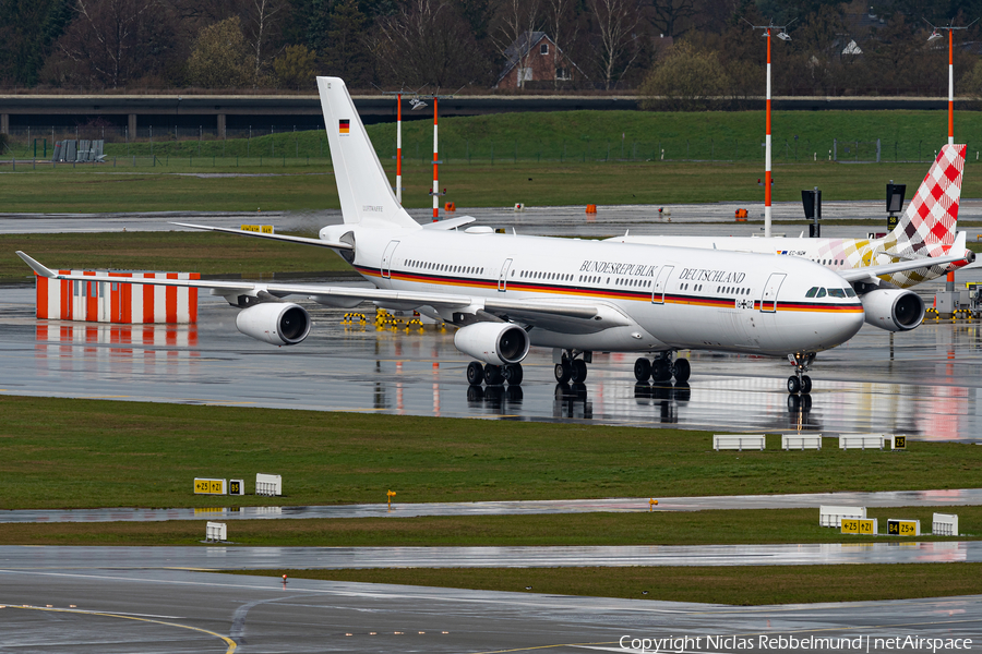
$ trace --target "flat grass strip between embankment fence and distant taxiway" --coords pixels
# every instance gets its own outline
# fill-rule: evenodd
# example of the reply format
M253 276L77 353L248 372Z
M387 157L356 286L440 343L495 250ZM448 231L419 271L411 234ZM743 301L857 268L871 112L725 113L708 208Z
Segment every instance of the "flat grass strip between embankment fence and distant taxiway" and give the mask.
M289 162L289 161L288 161ZM391 168L387 166L386 168ZM228 175L208 177L212 172ZM318 171L312 174L311 171ZM193 172L195 174L177 174ZM927 172L926 164L828 162L776 165L774 201L801 201L801 190L818 186L826 202L882 199L888 180L906 182L912 196ZM390 181L394 173L388 170ZM745 202L763 204L758 164L487 164L441 168L443 201L460 208L527 206L679 204ZM403 202L408 208L432 206L432 169L407 166ZM50 167L0 175L7 213L104 211L255 211L339 208L337 187L325 167L188 167L117 170ZM982 178L966 173L966 197L982 196ZM795 209L793 217L801 215ZM781 218L780 215L777 218ZM599 216L602 220L602 215ZM802 225L804 221L802 220Z

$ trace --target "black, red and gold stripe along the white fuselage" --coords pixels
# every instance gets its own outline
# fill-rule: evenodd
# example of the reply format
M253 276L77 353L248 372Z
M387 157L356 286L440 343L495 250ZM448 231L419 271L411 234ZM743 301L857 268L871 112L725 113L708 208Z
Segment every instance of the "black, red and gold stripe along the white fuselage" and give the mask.
M355 269L364 277L383 279L380 268L368 266L355 266ZM409 281L412 283L429 283L463 289L498 290L496 279L479 279L474 277L458 277L453 275L432 275L411 272L407 270L391 270L390 279L396 281ZM552 293L571 298L597 298L602 300L631 300L634 302L651 302L651 291L628 291L618 289L597 289L577 284L535 283L530 281L508 281L507 290L526 293ZM664 304L688 304L692 306L706 306L717 308L734 308L740 298L714 298L704 295L684 295L666 293ZM761 300L746 299L753 303L753 308L761 308ZM780 300L777 303L779 311L795 311L810 313L862 313L861 302L851 304L825 304L822 302L788 302ZM747 310L751 306L746 306Z

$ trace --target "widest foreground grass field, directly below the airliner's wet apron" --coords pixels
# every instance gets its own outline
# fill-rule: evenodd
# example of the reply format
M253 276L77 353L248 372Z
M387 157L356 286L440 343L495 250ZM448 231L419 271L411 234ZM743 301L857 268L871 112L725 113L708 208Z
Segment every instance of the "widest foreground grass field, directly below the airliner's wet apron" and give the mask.
M663 497L961 488L982 448L715 452L705 432L0 397L0 509L207 507L195 476L276 471L237 505ZM660 462L670 462L661 464ZM251 492L247 482L247 492Z

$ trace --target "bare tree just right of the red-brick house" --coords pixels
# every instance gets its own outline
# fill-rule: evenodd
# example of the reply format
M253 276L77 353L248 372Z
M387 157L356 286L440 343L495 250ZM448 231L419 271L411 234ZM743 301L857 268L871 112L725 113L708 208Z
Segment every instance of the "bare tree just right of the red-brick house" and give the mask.
M640 53L637 0L588 0L597 21L597 59L604 88L624 76Z

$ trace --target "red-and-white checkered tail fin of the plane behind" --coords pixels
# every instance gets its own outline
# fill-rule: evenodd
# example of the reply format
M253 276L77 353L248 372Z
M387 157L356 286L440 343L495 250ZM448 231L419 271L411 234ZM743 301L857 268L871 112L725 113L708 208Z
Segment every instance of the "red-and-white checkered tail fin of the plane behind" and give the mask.
M944 145L890 237L899 251L939 256L955 242L965 145ZM893 240L893 239L890 239Z

